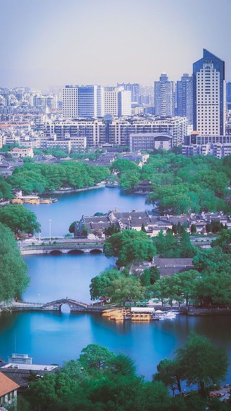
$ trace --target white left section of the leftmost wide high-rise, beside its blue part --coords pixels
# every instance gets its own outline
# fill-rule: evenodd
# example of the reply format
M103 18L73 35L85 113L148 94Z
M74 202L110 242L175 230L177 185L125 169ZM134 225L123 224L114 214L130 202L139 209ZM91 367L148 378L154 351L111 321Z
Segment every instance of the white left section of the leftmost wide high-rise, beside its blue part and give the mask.
M65 86L63 89L63 117L78 117L78 86Z

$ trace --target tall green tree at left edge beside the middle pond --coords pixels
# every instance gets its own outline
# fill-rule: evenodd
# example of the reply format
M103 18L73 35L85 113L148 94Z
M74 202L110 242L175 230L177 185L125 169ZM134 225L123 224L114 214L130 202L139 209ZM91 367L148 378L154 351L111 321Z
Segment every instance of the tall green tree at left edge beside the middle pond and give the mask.
M26 291L27 265L11 230L0 223L0 301L10 300Z

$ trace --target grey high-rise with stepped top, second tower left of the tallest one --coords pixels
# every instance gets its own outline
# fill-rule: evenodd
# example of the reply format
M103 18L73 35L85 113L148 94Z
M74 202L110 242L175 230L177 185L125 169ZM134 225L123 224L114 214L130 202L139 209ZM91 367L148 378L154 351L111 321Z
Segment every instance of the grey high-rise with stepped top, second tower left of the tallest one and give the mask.
M156 116L174 115L174 82L168 81L166 73L161 74L160 81L155 81Z

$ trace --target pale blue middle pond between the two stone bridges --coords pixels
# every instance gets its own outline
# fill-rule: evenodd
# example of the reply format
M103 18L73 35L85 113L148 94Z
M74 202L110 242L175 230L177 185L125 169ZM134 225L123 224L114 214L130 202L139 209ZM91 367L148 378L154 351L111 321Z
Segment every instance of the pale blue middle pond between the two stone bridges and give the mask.
M115 264L115 258L93 253L28 255L25 261L31 281L23 299L34 303L66 297L89 303L91 278Z

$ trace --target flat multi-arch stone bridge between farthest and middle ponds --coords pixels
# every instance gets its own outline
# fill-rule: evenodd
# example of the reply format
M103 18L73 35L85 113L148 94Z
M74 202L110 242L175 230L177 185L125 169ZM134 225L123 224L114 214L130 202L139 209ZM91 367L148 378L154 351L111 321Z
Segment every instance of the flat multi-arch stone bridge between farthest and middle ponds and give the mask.
M103 242L86 242L86 243L79 243L79 244L49 244L49 245L29 245L29 246L21 246L21 254L28 255L28 254L84 254L84 253L92 253L92 254L100 254L103 252Z

